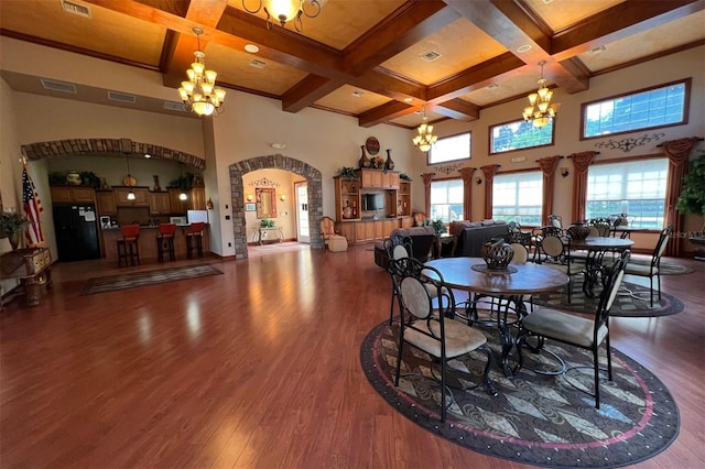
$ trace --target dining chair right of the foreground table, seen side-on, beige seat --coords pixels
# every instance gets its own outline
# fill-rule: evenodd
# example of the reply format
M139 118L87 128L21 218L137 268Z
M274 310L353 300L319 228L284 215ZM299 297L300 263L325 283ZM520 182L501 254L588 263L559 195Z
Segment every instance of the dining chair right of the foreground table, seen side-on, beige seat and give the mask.
M566 381L573 388L587 392L595 397L595 407L599 408L599 349L605 345L607 355L607 378L612 380L611 348L609 345L609 309L617 296L617 291L625 275L625 268L629 261L629 251L621 253L612 266L605 273L603 292L593 318L576 316L573 313L562 312L551 308L538 308L523 318L519 327L517 337L518 364L516 372L523 367L523 351L529 348L532 352L547 352L553 356L560 364L558 370L531 370L539 374L562 374L572 369L584 368L575 366L568 368L565 361L554 352L544 348L546 339L568 343L574 347L589 350L593 355L594 391L585 391L582 386L573 384L567 378ZM531 347L528 343L530 337L538 337L538 345Z

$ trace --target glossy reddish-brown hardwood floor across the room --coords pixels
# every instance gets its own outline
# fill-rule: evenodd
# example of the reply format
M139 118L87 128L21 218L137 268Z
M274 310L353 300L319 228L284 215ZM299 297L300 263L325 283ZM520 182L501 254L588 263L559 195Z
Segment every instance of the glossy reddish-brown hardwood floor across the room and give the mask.
M85 280L117 270L59 264L39 307L6 305L0 466L522 467L435 437L368 384L359 347L390 295L371 244L208 262L224 274L91 296ZM697 272L663 290L683 313L612 319L614 347L681 411L677 440L639 468L705 467L705 263L682 262Z

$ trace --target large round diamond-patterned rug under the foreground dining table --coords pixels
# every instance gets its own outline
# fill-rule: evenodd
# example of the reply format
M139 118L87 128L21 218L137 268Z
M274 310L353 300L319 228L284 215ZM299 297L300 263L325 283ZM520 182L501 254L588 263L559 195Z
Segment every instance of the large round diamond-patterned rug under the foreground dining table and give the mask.
M612 378L600 381L600 408L594 399L566 383L564 377L546 377L532 369L550 367L550 356L524 353L525 368L508 380L500 371L499 340L492 328L479 328L488 336L495 366L490 379L499 391L491 397L484 386L454 390L446 423L440 421L440 385L425 378L432 363L423 352L404 348L402 378L394 386L399 327L382 323L362 341L360 360L375 390L412 422L443 438L474 451L497 458L553 468L614 468L649 459L676 438L680 415L665 385L649 370L612 350ZM570 379L592 386L589 352L570 346L549 346L576 369ZM482 355L451 362L469 372L471 382L481 380ZM605 355L600 357L604 359ZM475 358L475 359L474 359ZM436 366L433 366L437 368ZM449 384L457 385L457 372ZM467 378L467 377L466 377Z

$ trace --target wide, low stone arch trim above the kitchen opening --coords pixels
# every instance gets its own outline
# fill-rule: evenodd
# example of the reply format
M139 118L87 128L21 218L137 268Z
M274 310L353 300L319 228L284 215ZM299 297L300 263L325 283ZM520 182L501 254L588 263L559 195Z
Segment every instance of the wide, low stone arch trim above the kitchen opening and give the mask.
M126 145L128 148L126 148ZM203 170L206 161L200 156L152 143L133 142L130 139L69 139L35 142L22 145L22 154L30 161L63 155L123 155L124 153L150 154L153 159L170 160L186 166Z

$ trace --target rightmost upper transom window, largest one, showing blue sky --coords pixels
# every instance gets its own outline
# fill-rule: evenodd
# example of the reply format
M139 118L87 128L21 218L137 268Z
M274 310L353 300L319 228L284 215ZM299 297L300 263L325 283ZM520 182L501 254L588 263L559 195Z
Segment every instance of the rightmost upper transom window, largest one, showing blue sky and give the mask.
M583 105L583 139L687 123L691 79Z

